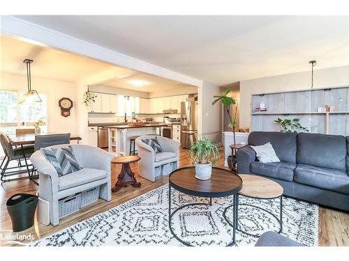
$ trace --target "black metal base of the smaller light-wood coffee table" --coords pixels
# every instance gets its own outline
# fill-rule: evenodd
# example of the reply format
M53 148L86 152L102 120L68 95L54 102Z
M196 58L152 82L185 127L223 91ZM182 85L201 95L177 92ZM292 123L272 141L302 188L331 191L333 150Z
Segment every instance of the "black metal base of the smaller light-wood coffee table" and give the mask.
M280 229L277 233L281 233L282 230L283 230L283 223L282 223L282 218L283 218L283 196L279 196L279 197L276 197L276 198L280 198L280 217L276 216L275 214L273 214L272 212L269 212L267 209L264 209L262 207L258 207L256 205L251 205L251 204L239 204L239 196L242 196L242 195L239 195L237 194L237 203L236 203L236 206L234 206L234 208L237 209L237 214L236 214L236 219L234 221L235 224L237 224L237 227L236 227L236 230L239 231L239 232L242 232L244 233L245 235L249 235L249 236L252 236L252 237L260 237L261 235L254 235L254 234L251 234L251 233L248 233L242 229L239 228L239 206L250 206L250 207L255 207L255 208L258 208L260 210L262 210L263 212L267 212L268 214L272 215L274 217L274 219L276 219L276 221L278 221L279 223L279 226L280 226ZM252 197L252 196L246 196L244 195L244 197L248 197L248 198L255 198L255 197ZM274 198L255 198L255 199L258 199L258 200L270 200L270 199L274 199ZM225 212L226 210L228 210L230 207L232 207L233 205L230 205L229 207L225 208ZM223 216L225 217L225 212L223 212ZM232 226L232 224L230 223L230 221L228 221L228 219L226 219L225 217L225 220L230 224L230 226Z

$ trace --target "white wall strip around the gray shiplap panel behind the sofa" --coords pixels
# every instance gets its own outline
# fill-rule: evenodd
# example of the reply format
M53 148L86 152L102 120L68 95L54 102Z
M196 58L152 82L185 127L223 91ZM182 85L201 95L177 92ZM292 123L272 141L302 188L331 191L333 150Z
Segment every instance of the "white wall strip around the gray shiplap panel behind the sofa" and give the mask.
M313 88L346 86L349 66L314 70ZM240 127L251 127L251 95L311 87L311 71L240 81Z

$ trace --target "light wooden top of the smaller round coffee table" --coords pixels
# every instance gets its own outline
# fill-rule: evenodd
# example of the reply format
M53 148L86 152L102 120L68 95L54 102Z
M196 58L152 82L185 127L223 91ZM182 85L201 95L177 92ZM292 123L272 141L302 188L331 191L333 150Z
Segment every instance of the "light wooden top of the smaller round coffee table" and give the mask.
M249 174L239 174L242 178L240 195L253 198L277 198L283 194L283 187L274 180Z

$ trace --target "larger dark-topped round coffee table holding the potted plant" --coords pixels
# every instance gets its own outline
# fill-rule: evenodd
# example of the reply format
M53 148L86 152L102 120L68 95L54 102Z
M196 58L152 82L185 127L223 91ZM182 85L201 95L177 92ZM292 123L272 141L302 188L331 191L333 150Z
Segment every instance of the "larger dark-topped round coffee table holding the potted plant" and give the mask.
M172 235L182 244L186 246L191 246L188 242L181 240L172 230L172 216L184 207L191 205L212 205L212 198L220 198L225 196L234 196L234 224L237 222L237 192L242 189L242 179L236 174L232 174L230 171L226 171L223 168L212 168L212 176L209 180L199 180L195 177L195 167L179 168L173 171L169 177L169 196L168 196L168 224L170 227L170 232ZM178 207L171 214L171 187L177 191L186 193L191 196L205 197L209 198L209 203L191 203ZM231 205L229 207L232 207ZM235 244L235 228L234 224L231 224L225 212L223 212L223 217L227 223L233 228L232 242L228 246Z

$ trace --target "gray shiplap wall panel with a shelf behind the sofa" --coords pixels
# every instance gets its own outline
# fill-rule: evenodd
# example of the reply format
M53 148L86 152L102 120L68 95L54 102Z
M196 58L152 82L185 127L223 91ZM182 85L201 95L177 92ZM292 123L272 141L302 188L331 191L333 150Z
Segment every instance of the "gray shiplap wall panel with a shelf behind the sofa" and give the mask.
M267 113L255 114L254 109L264 102ZM281 127L276 118L299 118L312 133L326 133L326 113L318 114L318 107L336 106L338 113L329 113L329 134L349 135L349 87L299 90L285 93L252 95L251 131L276 131ZM272 113L272 114L270 114ZM288 114L290 113L290 114Z

